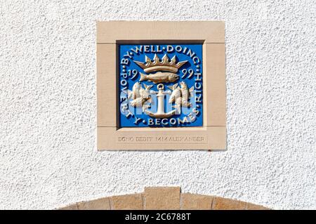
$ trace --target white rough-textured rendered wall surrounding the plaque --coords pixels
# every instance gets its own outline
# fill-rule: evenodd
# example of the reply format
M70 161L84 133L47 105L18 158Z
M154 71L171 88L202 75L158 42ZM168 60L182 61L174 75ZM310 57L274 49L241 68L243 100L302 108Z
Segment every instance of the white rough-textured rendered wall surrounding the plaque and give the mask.
M53 209L157 185L316 209L315 7L2 0L0 209ZM97 152L96 20L225 20L228 150Z

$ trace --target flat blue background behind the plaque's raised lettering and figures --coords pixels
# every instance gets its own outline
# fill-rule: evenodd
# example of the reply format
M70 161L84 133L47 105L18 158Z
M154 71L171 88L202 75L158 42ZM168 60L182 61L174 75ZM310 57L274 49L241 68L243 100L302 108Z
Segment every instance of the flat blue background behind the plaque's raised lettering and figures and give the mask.
M203 74L203 67L202 67L202 44L140 44L140 45L129 45L129 44L120 44L119 45L119 58L118 58L118 65L119 65L119 96L123 96L123 95L126 95L124 93L121 93L121 80L124 79L124 77L122 77L122 73L126 73L126 72L123 72L123 70L125 69L127 72L129 70L137 70L138 71L138 74L137 76L134 78L134 79L131 79L131 77L128 77L126 79L126 81L128 82L128 89L132 89L133 87L133 84L136 83L136 81L139 81L140 79L140 74L139 72L142 72L143 74L148 74L146 72L143 71L143 69L141 67L139 67L138 65L136 65L135 62L133 62L133 60L136 60L136 61L139 61L139 62L145 62L145 55L147 55L151 60L152 58L154 58L154 54L155 53L152 53L152 52L144 52L142 51L142 53L134 53L131 55L131 57L133 57L133 59L130 59L129 61L129 65L126 65L126 67L124 68L123 65L121 65L121 59L122 58L127 58L127 57L124 57L124 55L126 55L126 53L129 51L129 52L132 52L131 51L131 48L135 48L136 46L145 46L145 45L149 45L149 46L154 46L154 49L157 48L157 46L159 46L161 49L162 48L166 48L166 46L173 46L173 48L176 48L176 46L181 46L182 48L184 47L187 47L187 48L190 48L192 51L194 51L197 55L197 57L199 57L199 60L200 62L197 64L199 65L199 67L197 68L196 65L193 64L193 61L192 61L192 58L190 58L189 55L186 55L184 53L181 53L181 52L176 52L175 50L170 52L170 53L167 53L166 51L162 51L161 53L157 53L159 59L161 60L162 57L167 53L167 55L169 56L169 58L171 59L173 57L173 55L176 55L176 58L177 58L177 62L180 62L180 61L183 61L183 60L187 60L187 62L185 63L185 65L183 65L182 67L180 67L180 69L178 70L178 72L176 74L179 75L179 79L178 81L176 82L173 82L173 83L163 83L164 84L164 91L167 91L169 90L169 88L167 88L167 86L171 86L173 84L176 84L176 83L180 83L180 81L185 81L185 83L187 84L187 86L190 88L191 86L194 86L195 85L195 78L196 76L193 75L190 79L187 79L187 76L184 77L182 79L182 75L183 73L181 72L183 69L187 69L187 70L190 70L192 69L194 72L197 72L197 69L199 71L199 73ZM155 72L151 72L151 73L155 73ZM202 75L200 76L200 79L202 79ZM203 80L202 81L199 81L200 84L202 84L203 86ZM140 84L142 84L142 88L144 88L143 84L146 84L146 85L153 85L151 90L154 90L154 91L157 91L157 84L153 84L151 81L140 81ZM203 95L203 93L202 93ZM167 125L163 125L163 124L160 124L160 125L148 125L148 123L143 123L142 121L138 121L138 124L134 124L134 121L135 121L135 117L129 117L129 118L126 118L125 114L122 114L121 113L121 100L119 99L118 100L118 103L119 103L119 126L120 127L148 127L148 126L151 126L151 127L176 127L176 126L203 126L203 98L202 99L202 103L198 103L198 104L195 104L195 100L193 100L193 98L190 99L190 102L194 105L193 107L189 107L189 108L185 108L185 107L182 107L181 108L181 114L175 114L173 115L172 117L169 117L168 120L170 120L171 118L175 118L175 119L178 119L178 117L180 119L183 119L183 117L186 117L187 114L189 114L190 112L192 112L192 108L194 107L198 107L197 109L199 110L199 114L196 115L196 120L194 122L190 122L190 123L186 123L186 124L175 124L175 125L172 125L172 124L167 124ZM152 112L156 112L157 111L157 98L153 98L154 100L154 104L152 104L152 107L149 108L148 110L152 111ZM166 95L166 98L165 98L165 111L166 112L169 112L170 110L173 110L173 108L171 107L171 105L169 105L168 103L168 100L169 100L169 95ZM131 105L129 105L129 110L131 110L131 112L133 112L134 114L136 114L136 112L138 114L136 114L136 117L137 118L140 118L140 119L145 119L145 121L147 121L148 118L152 118L150 116L148 116L147 114L145 113L142 113L142 110L141 108L135 108L135 107L131 107ZM154 118L152 118L154 119Z

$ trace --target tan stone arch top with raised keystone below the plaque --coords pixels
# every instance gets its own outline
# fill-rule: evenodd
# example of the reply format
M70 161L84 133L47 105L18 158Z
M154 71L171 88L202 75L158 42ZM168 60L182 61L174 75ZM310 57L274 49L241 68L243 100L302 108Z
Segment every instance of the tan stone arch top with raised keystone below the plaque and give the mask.
M209 195L181 193L180 187L145 187L133 195L104 197L78 202L60 210L268 210L264 206Z

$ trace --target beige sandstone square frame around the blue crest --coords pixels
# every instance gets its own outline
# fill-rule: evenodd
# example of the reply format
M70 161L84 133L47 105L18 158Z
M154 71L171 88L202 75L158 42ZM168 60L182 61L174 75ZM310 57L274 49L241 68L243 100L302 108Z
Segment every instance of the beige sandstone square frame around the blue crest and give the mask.
M97 22L98 150L225 150L225 23ZM203 48L203 126L120 128L119 44L198 43Z

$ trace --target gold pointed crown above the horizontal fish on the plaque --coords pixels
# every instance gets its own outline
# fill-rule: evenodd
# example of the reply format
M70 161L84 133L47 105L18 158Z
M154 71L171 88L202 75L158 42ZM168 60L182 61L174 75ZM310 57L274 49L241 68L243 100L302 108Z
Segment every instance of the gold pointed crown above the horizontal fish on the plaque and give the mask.
M162 57L162 60L160 60L157 54L154 54L154 58L152 60L150 60L150 58L145 55L145 64L136 60L134 60L134 62L136 62L136 65L141 67L144 72L147 73L156 71L167 71L176 73L178 72L178 69L187 62L187 60L176 62L176 55L174 55L173 58L171 58L170 60L170 58L166 54L164 55L164 57Z

